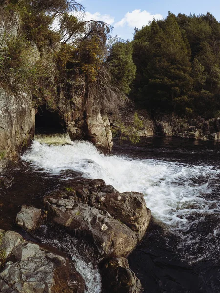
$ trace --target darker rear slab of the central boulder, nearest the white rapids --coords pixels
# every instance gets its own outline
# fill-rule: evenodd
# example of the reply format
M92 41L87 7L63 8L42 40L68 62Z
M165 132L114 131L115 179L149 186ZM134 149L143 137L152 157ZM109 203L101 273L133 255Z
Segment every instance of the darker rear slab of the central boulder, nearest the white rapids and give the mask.
M107 211L114 219L128 226L136 234L138 241L145 235L151 211L146 207L142 193L120 193L101 179L90 180L88 184L75 187L74 192L76 201Z

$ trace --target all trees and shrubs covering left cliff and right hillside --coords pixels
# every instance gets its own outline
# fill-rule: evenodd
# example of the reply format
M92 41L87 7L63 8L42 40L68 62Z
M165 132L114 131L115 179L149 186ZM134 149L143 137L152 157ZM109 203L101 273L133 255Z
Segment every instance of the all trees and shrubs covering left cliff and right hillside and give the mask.
M54 81L62 86L77 72L103 112L117 112L128 95L153 115L220 116L220 23L210 13L169 12L123 41L110 36L108 24L78 18L79 1L1 2L8 13L19 13L23 32L0 40L1 83L14 91L26 87L36 105L54 95ZM33 42L42 55L34 66L27 54ZM52 63L57 71L51 74Z

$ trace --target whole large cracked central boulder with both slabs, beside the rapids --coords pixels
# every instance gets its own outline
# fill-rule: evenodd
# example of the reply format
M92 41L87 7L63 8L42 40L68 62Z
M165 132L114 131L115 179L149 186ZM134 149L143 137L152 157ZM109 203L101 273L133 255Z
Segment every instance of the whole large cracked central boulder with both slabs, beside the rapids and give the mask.
M119 193L100 179L51 194L44 204L50 220L88 239L102 258L128 256L150 221L141 193Z

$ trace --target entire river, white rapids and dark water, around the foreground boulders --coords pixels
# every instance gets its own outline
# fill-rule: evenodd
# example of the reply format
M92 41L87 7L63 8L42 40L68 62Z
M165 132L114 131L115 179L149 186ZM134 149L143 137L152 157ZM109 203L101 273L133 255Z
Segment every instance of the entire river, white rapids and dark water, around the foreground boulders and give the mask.
M43 208L43 197L68 180L102 178L120 192L142 192L152 210L147 234L129 257L144 292L220 292L219 143L149 137L136 145L115 141L104 156L88 142L45 142L35 141L0 187L0 228L18 230L21 205ZM59 239L45 242L70 250ZM78 267L89 277L98 274L86 271L82 259ZM88 288L99 293L93 283Z

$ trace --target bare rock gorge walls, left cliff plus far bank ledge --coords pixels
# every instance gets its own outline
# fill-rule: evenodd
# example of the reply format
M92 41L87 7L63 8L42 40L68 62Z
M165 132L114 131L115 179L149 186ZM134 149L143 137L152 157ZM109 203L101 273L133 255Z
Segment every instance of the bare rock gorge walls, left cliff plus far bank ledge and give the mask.
M19 15L14 11L5 12L0 6L0 46L5 46L9 39L20 37L21 22ZM35 65L39 59L48 59L51 51L59 49L59 43L48 44L39 51L37 45L31 42L27 48L30 62ZM14 80L10 83L2 81L0 84L0 159L18 159L23 148L30 145L35 133L35 117L46 116L46 113L55 113L60 127L67 131L72 140L90 140L95 146L108 153L113 146L109 118L101 113L96 103L97 97L88 95L87 80L82 73L75 71L66 80L59 84L56 80L56 63L48 63L51 74L50 83L53 93L46 95L44 100L36 104L31 92L22 87L16 92L13 90ZM37 116L36 116L37 115ZM133 112L122 112L122 121L126 126L133 125ZM138 129L139 136L177 136L182 138L196 138L202 140L220 140L220 118L205 120L180 118L174 115L150 117L144 111L139 111L143 127ZM44 119L47 127L49 116ZM111 121L114 124L113 121ZM50 121L51 126L51 121ZM37 125L38 127L38 125ZM56 126L54 126L56 127ZM136 131L136 129L134 129Z

